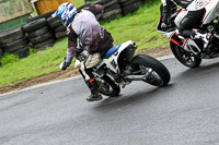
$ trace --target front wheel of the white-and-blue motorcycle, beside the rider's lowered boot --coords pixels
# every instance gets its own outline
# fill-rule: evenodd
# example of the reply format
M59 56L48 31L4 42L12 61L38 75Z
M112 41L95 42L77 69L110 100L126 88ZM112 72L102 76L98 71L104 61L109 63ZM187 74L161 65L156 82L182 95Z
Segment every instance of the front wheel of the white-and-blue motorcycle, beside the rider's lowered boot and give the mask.
M115 82L108 77L107 75L104 75L101 78L96 78L99 84L99 90L106 96L110 97L116 97L120 93L119 85L115 84Z

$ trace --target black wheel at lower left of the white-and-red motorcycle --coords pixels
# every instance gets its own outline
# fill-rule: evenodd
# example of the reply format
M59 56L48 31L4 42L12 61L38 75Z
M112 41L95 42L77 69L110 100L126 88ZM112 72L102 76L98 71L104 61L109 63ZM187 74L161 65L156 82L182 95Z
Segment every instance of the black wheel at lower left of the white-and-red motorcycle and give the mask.
M171 50L172 50L173 55L182 64L184 64L185 67L191 68L191 69L197 68L200 65L201 59L199 59L197 56L185 51L183 48L173 44L172 41L170 45L171 45Z

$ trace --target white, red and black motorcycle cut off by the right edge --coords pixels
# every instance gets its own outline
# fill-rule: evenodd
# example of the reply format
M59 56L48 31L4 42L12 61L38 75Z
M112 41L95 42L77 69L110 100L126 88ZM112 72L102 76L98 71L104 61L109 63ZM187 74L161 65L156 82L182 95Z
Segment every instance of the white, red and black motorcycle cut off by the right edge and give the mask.
M175 58L188 68L199 67L201 59L219 57L219 0L208 0L204 8L205 15L200 25L192 28L210 34L207 47L204 47L205 43L200 39L182 38L177 35L175 23L184 19L183 13L186 13L186 11L176 8L176 5L172 5L171 25L168 27L163 26L163 21L160 19L157 27L158 32L164 34L170 39L171 50Z

